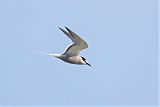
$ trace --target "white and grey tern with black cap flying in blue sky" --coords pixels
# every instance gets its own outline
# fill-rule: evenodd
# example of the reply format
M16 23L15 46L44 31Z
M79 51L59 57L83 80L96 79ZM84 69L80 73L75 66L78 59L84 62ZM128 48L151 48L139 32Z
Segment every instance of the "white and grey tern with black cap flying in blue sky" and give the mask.
M71 31L69 28L65 27L66 30L58 27L68 38L70 38L73 42L62 54L49 54L45 52L40 52L44 54L48 54L49 56L54 56L56 58L61 59L64 62L70 64L78 64L78 65L89 65L91 66L86 58L80 56L80 51L88 48L88 44L80 38L76 33Z

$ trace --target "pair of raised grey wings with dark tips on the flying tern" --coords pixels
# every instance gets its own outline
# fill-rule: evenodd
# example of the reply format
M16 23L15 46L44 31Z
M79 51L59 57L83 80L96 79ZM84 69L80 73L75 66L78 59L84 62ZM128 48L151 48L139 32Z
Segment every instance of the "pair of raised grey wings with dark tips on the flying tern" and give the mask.
M61 28L60 30L64 32L73 41L73 44L70 45L63 54L74 56L79 54L81 50L88 48L87 43L83 39L81 39L77 34L75 34L69 28L67 27L65 28L67 29L68 32Z

